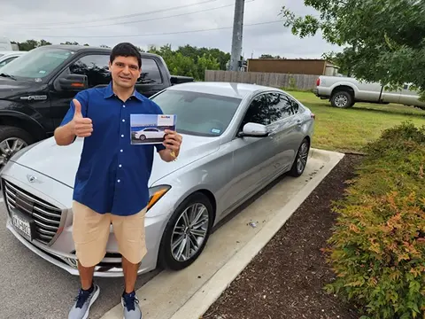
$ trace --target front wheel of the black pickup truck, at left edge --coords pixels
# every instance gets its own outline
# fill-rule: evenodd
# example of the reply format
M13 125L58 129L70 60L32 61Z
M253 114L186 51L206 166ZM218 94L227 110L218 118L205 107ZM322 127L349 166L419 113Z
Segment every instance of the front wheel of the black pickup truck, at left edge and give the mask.
M0 169L19 150L34 142L34 138L24 129L0 125Z

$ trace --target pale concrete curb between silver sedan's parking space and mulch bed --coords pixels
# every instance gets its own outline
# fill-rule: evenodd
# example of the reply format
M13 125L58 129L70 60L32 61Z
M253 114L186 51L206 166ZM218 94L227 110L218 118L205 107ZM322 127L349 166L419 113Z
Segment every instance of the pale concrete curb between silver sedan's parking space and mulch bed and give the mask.
M336 156L336 154L338 154ZM334 159L330 159L330 155L334 155ZM226 263L213 277L208 280L170 319L198 319L208 310L217 300L221 293L224 292L228 285L231 284L236 276L238 276L252 259L259 253L261 249L268 244L274 235L282 228L282 226L290 219L310 193L321 183L322 179L336 166L336 164L344 158L344 154L336 152L322 151L312 149L311 156L316 159L328 159L330 165L326 167L326 171L322 178L316 178L308 183L303 191L292 198L274 218L267 222L262 230L257 233L251 241L243 246L228 263Z

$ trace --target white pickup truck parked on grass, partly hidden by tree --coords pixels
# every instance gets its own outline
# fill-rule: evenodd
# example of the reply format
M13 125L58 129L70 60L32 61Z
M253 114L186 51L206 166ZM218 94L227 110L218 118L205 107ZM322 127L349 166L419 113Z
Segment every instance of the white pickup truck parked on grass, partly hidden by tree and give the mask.
M419 100L417 91L405 84L402 89L387 90L377 82L359 82L351 77L321 75L316 82L314 94L328 99L335 107L348 108L356 102L377 104L401 104L425 110L425 103Z

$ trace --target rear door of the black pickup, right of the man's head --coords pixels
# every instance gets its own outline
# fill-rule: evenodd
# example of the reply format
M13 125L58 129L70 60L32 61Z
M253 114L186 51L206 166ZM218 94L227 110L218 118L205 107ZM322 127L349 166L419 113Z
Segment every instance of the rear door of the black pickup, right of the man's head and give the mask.
M143 57L142 72L135 83L135 89L144 97L151 97L166 86L166 79L163 79L158 61L155 58Z

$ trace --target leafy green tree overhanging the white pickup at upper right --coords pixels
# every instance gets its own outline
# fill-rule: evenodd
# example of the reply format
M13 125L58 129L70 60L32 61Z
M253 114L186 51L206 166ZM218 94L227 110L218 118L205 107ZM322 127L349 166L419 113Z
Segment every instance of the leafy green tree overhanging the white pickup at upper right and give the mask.
M305 0L319 16L297 17L286 7L285 27L301 38L321 31L344 47L328 57L347 72L391 89L411 82L425 100L425 3L421 0Z

